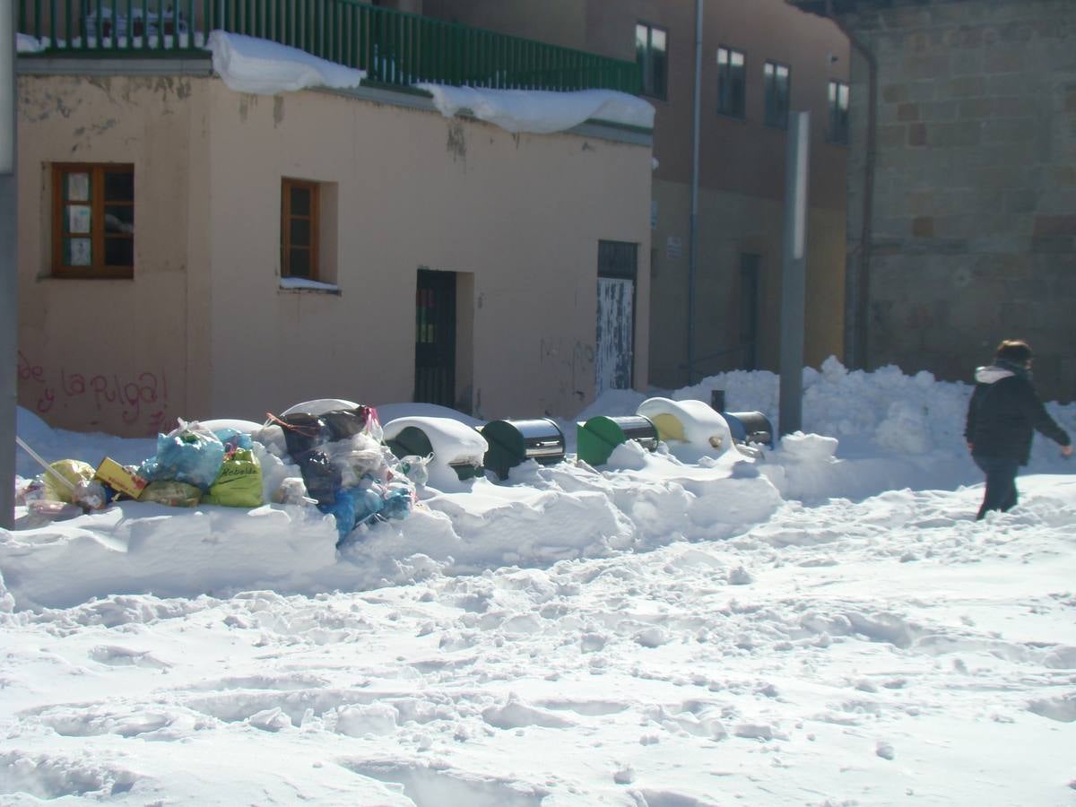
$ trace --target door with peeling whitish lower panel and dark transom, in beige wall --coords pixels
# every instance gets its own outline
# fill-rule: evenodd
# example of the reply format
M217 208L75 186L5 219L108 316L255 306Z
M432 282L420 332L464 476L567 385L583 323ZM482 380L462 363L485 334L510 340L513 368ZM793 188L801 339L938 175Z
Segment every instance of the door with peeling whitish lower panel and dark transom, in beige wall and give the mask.
M632 388L635 358L636 245L598 242L597 339L595 394Z

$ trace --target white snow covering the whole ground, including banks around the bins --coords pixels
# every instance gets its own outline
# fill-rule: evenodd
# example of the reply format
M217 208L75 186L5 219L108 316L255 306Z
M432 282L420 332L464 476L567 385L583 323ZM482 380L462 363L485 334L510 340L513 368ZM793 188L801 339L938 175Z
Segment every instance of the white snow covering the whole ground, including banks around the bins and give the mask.
M776 421L771 373L666 395L712 388ZM426 487L341 552L282 505L0 530L0 804L1074 804L1076 466L1036 437L976 522L969 393L830 359L761 461L591 468L564 422L568 462Z

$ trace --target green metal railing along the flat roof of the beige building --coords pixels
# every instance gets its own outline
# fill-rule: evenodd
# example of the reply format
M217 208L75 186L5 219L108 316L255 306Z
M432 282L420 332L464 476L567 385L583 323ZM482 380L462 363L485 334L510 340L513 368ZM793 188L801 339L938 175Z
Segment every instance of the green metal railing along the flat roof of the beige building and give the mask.
M357 0L16 0L18 30L47 56L169 56L209 32L244 33L365 70L370 81L499 89L641 86L633 61L509 37Z

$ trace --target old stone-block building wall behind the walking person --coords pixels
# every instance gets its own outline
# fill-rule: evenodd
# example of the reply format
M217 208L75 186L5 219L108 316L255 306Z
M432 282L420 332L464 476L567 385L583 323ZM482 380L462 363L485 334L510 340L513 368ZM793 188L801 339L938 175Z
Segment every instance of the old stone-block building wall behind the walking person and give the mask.
M851 42L850 364L1076 398L1076 2L789 0Z

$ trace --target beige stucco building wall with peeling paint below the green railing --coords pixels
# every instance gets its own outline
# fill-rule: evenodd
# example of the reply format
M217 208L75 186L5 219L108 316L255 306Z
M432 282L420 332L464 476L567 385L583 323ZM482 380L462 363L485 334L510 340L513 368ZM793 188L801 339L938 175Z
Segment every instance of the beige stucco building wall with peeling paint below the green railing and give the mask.
M208 58L19 72L19 404L54 426L409 401L435 341L443 402L570 416L595 394L610 243L638 255L627 358L646 384L649 132L511 134L385 89L245 95ZM132 268L88 277L90 250ZM424 318L429 283L451 315Z

